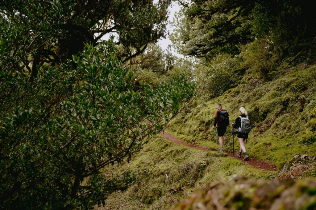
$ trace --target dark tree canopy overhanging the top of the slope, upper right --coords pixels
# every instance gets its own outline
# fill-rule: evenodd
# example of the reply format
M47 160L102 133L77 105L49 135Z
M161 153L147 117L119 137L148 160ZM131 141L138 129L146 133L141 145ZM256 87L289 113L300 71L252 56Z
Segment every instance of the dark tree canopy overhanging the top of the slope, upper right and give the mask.
M173 43L184 55L215 57L238 54L238 46L259 37L271 37L275 45L293 40L303 31L315 35L316 18L307 12L307 1L216 0L183 5ZM313 3L314 4L314 3ZM308 6L307 6L308 5ZM309 7L313 8L313 7ZM285 44L286 45L286 44Z

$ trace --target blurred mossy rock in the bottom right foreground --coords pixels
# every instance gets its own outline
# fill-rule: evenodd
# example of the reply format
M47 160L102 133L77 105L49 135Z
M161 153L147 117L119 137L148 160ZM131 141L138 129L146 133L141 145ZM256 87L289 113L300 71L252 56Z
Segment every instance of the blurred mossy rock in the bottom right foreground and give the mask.
M279 182L233 177L194 192L173 208L180 209L313 210L316 209L316 179Z

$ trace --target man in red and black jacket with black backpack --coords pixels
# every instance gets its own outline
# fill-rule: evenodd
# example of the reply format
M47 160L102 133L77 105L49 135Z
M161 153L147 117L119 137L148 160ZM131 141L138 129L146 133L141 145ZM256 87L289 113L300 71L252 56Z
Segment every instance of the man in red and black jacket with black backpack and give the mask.
M217 105L217 111L215 112L215 121L213 129L217 124L217 134L219 139L219 145L221 146L221 151L224 152L224 134L227 126L229 126L229 117L228 111L222 109L222 105ZM215 131L214 131L215 132Z

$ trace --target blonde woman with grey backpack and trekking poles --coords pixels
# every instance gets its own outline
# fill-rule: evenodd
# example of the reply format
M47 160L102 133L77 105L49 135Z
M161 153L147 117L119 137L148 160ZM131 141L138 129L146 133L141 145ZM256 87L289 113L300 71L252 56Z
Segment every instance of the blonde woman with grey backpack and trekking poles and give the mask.
M249 156L246 152L245 148L245 139L248 139L248 133L251 130L251 123L248 118L248 113L244 107L240 107L239 109L239 117L236 118L235 123L233 122L233 128L237 128L237 137L240 144L240 150L237 154L239 158L241 158L241 152L244 152L244 160L248 160Z

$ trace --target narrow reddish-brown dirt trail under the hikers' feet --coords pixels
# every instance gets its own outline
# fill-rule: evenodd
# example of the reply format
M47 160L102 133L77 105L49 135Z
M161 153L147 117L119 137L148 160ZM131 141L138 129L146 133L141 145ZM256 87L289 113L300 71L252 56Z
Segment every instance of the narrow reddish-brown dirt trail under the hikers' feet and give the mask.
M160 135L165 137L169 141L171 141L173 143L176 143L176 144L179 144L179 145L185 145L187 147L191 147L191 148L195 148L195 149L203 150L203 151L206 151L206 150L216 151L215 148L208 148L208 147L205 147L205 146L191 145L191 144L185 143L185 142L180 141L179 139L175 138L173 135L171 135L169 133L166 133L166 132L162 132L161 131ZM233 157L233 153L232 152L226 152L226 154L228 154L228 156L230 156L230 157ZM277 170L275 165L267 163L267 162L264 162L264 161L261 161L261 160L249 158L247 161L244 161L243 158L238 158L237 157L237 153L235 153L235 157L233 157L233 158L235 158L235 159L237 159L237 160L239 160L241 162L244 162L246 164L249 164L252 167L261 169L261 170L265 170L265 171L276 171Z

